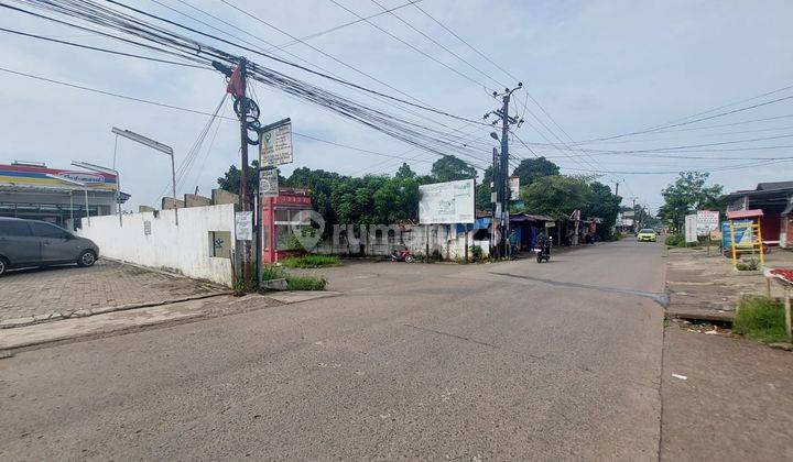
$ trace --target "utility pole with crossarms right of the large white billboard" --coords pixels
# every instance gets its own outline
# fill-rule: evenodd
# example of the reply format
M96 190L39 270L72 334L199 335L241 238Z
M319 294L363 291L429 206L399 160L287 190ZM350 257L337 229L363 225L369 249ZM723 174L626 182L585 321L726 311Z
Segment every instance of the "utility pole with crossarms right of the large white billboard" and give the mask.
M517 117L510 117L509 114L509 102L512 94L522 88L523 84L518 82L518 86L512 88L504 88L503 94L493 91L493 98L501 97L501 109L485 114L485 119L491 114L498 119L491 123L496 125L499 120L501 121L501 139L499 140L496 132L490 133L490 136L495 140L501 141L501 153L498 156L498 163L493 163L493 182L496 186L496 210L500 209L500 217L495 217L495 221L501 224L501 241L497 245L497 253L501 256L510 256L511 249L508 245L509 240L509 201L510 201L510 189L509 189L509 128L511 124L518 124L520 127L523 123L522 119ZM495 154L495 152L493 152ZM497 213L498 215L498 213Z

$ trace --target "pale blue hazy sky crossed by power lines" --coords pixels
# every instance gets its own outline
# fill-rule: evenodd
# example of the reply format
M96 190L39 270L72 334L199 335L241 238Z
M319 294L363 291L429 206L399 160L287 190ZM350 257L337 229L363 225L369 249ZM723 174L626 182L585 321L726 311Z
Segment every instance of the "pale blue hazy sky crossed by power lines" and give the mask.
M514 87L519 79L523 87L513 94L511 113L525 120L515 133L533 152L517 138L511 140L511 152L518 158L544 155L562 166L563 173L596 174L612 187L619 182L619 193L628 205L634 197L637 204L656 209L663 204L661 190L681 170L710 172L710 180L724 185L725 190L793 179L790 160L754 165L761 157L793 157L793 99L784 99L793 96L793 88L785 89L793 85L793 2L422 0L393 14L374 16L370 23L361 21L303 42L293 40L354 21L354 13L369 16L406 1L126 3L468 119L480 120L498 108L500 100L491 92ZM8 10L0 14L0 28L164 57ZM457 133L480 144L496 143L486 127L417 109L406 112L403 106L254 53L202 40L416 123L444 132L459 130ZM215 70L108 55L1 31L0 67L209 113L220 103L226 86L225 77ZM394 156L403 157L414 170L427 173L437 158L262 84L253 85L252 95L263 124L289 117L296 133L312 136L294 136L294 163L282 168L284 175L304 166L350 175L393 174L403 162ZM765 103L774 99L782 100ZM156 205L170 190L170 160L131 141L117 142L110 133L112 127L172 146L177 165L193 160L177 184L178 195L197 188L208 196L230 165L240 165L239 127L233 120L209 125L195 155L188 156L210 120L206 114L4 70L0 70L0 163L45 162L55 168L68 168L73 161L115 163L122 189L132 196L127 209ZM758 103L763 105L745 109ZM705 112L714 108L721 109ZM730 111L736 112L721 116ZM233 117L228 98L220 114ZM695 121L703 118L709 119ZM670 123L678 125L591 141ZM636 152L647 150L655 152ZM479 157L466 161L486 165L490 152L482 148ZM251 158L254 156L256 148L251 148Z

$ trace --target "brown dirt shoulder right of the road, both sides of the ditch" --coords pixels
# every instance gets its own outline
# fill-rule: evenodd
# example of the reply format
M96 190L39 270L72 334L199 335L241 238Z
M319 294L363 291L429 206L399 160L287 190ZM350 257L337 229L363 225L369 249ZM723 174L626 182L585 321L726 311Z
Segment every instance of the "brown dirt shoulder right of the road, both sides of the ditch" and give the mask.
M792 257L778 251L769 263ZM669 254L666 286L667 316L731 319L742 295L764 294L762 276L694 250ZM662 371L662 460L793 460L793 353L672 322Z

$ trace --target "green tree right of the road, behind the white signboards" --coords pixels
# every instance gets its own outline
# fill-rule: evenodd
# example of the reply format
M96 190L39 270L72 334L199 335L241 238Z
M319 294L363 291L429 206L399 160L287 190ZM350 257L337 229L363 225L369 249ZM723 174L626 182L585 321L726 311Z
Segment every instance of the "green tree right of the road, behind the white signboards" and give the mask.
M720 185L705 186L707 172L681 172L675 183L661 191L664 204L659 209L659 217L669 222L672 229L680 232L685 216L703 209L718 209Z

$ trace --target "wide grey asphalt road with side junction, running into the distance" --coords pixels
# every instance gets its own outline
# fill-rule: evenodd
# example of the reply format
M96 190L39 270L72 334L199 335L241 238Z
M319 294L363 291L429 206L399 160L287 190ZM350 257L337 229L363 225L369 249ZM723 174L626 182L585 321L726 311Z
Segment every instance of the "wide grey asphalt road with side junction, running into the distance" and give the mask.
M352 264L346 295L0 361L0 460L658 460L660 246Z

